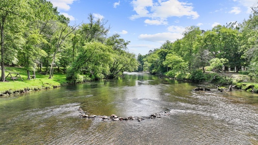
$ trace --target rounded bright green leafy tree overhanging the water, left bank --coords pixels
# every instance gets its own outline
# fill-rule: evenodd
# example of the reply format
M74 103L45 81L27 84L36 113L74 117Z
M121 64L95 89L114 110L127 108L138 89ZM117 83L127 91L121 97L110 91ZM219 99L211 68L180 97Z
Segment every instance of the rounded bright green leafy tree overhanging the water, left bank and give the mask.
M80 73L88 73L93 80L104 78L109 74L112 51L112 47L102 43L86 43L76 61L68 69L66 79L76 82Z

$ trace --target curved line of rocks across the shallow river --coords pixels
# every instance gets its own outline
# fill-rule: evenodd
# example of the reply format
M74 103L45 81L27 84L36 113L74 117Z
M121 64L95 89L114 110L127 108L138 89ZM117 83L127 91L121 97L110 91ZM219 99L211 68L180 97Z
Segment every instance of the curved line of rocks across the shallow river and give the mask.
M111 116L96 116L96 115L87 115L81 108L78 109L81 117L83 118L91 118L91 119L98 119L98 120L113 120L113 121L122 121L122 120L137 120L137 121L142 121L144 119L153 119L153 118L160 118L161 116L169 116L170 112L163 112L163 113L155 113L150 116L128 116L128 117L119 117L116 115L111 115Z

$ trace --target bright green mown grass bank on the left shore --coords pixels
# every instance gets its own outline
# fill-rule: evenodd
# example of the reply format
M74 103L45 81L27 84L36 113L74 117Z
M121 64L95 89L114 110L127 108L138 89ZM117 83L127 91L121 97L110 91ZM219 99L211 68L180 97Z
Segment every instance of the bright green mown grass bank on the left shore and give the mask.
M56 70L54 72L57 72ZM23 81L19 77L15 81L13 81L10 77L6 78L8 82L0 82L0 96L5 94L23 93L26 91L60 87L61 85L67 83L65 79L66 76L63 73L54 73L52 79L48 79L49 75L36 73L36 79L27 80L27 71L24 68L5 67L5 76L7 76L9 73L19 73ZM30 74L32 75L32 72ZM14 74L12 74L12 76L13 75Z

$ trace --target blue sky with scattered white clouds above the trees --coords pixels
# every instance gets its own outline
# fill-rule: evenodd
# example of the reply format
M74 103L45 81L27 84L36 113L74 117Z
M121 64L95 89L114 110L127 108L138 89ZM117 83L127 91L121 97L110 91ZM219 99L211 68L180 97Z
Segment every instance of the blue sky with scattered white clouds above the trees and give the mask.
M129 52L145 55L169 40L182 38L186 27L209 30L248 19L258 0L49 0L71 25L88 23L89 14L107 20L109 36L130 41Z

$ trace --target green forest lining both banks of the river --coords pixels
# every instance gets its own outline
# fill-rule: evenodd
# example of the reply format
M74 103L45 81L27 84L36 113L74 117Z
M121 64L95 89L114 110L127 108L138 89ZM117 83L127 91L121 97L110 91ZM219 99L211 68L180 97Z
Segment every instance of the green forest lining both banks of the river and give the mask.
M0 47L1 77L5 67L19 66L27 79L35 72L52 78L54 68L73 83L116 78L123 72L145 71L170 78L204 81L206 71L258 72L258 13L252 8L247 20L217 25L211 30L189 26L183 38L166 41L160 48L137 56L127 49L130 41L119 34L108 37L107 20L88 16L88 23L70 26L69 18L60 14L46 0L1 0ZM230 68L230 69L228 69ZM30 72L33 73L30 76ZM209 76L215 78L215 76Z

